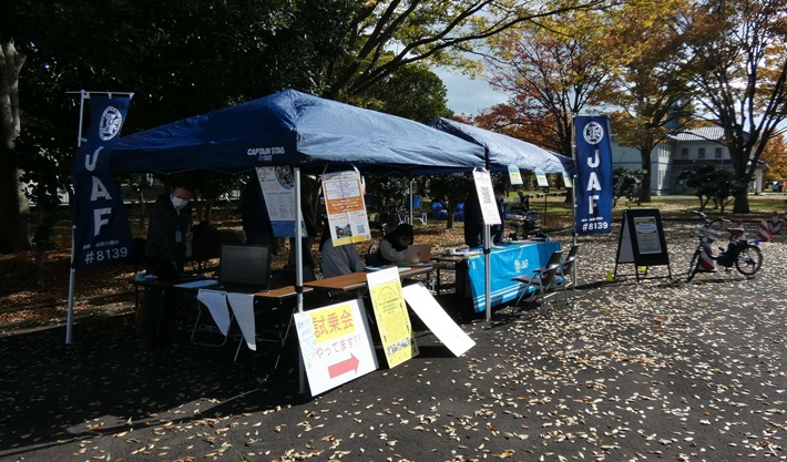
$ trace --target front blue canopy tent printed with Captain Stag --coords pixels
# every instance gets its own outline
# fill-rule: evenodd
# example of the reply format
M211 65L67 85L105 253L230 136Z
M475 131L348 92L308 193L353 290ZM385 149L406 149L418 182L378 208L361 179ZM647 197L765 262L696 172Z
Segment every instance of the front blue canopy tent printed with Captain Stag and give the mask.
M411 176L417 170L467 171L484 163L482 147L425 124L295 90L121 137L106 155L109 174L238 173L258 166L292 166L295 204L300 204L301 168L315 173L358 168L372 175ZM76 203L79 206L79 197ZM300 207L295 204L296 223L300 223ZM301 230L295 228L296 261L300 263ZM298 309L303 309L299 264L296 286ZM67 330L70 342L71 321Z

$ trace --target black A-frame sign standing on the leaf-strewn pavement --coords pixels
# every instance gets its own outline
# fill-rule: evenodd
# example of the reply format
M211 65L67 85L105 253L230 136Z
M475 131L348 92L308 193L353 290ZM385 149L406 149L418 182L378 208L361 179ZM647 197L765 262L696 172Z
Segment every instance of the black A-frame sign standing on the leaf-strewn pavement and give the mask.
M615 276L617 265L634 264L634 274L637 283L642 267L667 266L667 274L672 279L667 243L664 238L662 216L657 208L630 208L623 211L623 224L617 242L617 256L615 258Z

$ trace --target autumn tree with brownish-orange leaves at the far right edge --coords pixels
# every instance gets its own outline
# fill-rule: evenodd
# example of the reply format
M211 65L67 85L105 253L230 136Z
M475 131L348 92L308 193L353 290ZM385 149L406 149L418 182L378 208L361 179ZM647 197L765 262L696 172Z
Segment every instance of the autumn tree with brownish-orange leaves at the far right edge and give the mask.
M696 101L724 130L736 179L744 184L787 119L785 11L787 0L705 0L687 10L683 24ZM749 212L745 188L734 212Z

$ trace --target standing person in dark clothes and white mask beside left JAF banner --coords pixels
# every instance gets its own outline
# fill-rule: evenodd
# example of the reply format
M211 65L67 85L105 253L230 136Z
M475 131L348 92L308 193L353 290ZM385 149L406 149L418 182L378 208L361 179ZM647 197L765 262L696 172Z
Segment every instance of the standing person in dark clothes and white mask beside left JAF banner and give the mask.
M145 240L145 273L162 281L176 281L186 257L186 236L192 227L194 188L176 184L151 207ZM140 347L153 349L174 330L180 301L174 290L149 287L140 316Z

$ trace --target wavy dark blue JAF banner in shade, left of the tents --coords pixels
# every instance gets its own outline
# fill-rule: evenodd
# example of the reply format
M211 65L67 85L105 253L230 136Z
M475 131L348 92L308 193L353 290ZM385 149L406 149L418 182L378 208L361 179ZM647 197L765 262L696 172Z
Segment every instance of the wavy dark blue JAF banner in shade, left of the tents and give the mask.
M123 197L110 172L110 153L130 101L130 94L83 93L90 111L83 113L86 133L73 165L74 269L131 263L134 257Z

